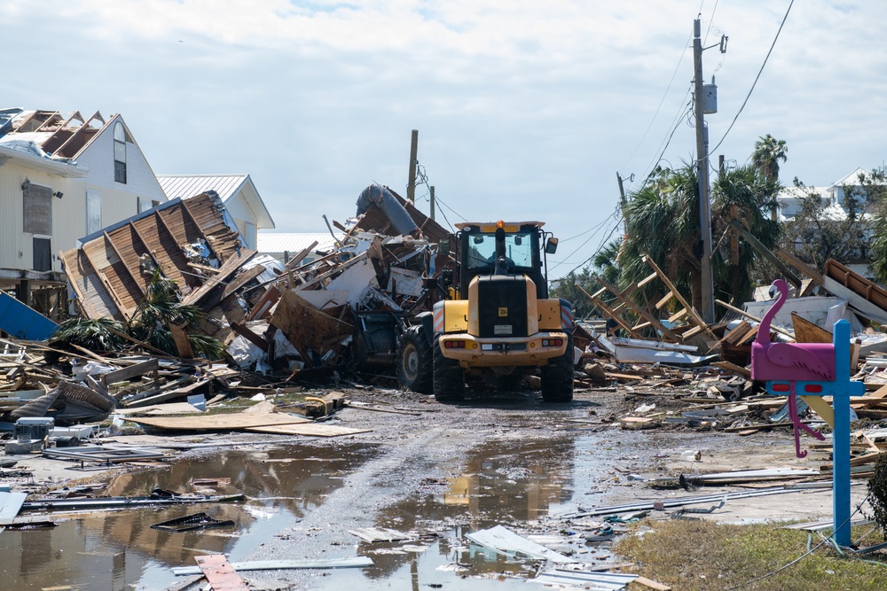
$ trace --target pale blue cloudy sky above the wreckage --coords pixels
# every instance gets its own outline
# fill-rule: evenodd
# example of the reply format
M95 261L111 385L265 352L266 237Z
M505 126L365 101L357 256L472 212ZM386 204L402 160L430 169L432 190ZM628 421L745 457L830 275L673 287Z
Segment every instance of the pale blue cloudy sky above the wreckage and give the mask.
M121 113L155 174L249 174L286 232L405 196L418 129L417 206L433 185L444 227L546 222L555 279L621 236L617 174L631 196L695 159L696 18L712 163L770 134L786 184L883 166L870 0L0 0L0 106Z

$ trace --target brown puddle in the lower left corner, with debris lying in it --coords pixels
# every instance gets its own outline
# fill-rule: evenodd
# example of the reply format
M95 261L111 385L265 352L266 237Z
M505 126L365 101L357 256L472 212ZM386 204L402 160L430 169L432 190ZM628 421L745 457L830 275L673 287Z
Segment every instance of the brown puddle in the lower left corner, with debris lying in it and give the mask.
M245 558L281 529L293 525L341 486L349 470L373 454L368 447L282 447L268 451L227 451L208 459L137 470L117 478L109 495L145 495L155 487L176 492L209 492L189 486L192 478L231 478L214 489L243 493L249 500L126 509L59 523L51 530L0 534L0 588L159 589L176 582L170 568L194 563L194 556L224 553ZM287 496L281 496L287 495ZM192 533L167 533L150 525L200 511L236 526Z

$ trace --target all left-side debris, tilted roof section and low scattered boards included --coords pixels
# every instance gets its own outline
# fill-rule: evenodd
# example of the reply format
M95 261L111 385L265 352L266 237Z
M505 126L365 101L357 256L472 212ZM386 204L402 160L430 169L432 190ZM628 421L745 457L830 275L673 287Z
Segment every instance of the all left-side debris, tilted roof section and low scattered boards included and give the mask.
M378 185L361 194L348 227L334 223L342 231L334 249L304 263L311 245L282 264L247 249L209 191L82 238L77 248L59 253L73 302L84 323L122 323L102 329L122 341L108 347L64 338L2 341L0 420L96 422L112 412L129 415L159 403L171 408L166 403L218 392L252 397L287 390L295 374L340 367L346 359L393 359L390 323L428 306L426 280L450 269L450 260L437 257L429 243L447 232ZM203 313L191 324L163 327L175 341L171 353L127 334L159 279L173 286L177 305ZM46 320L12 304L17 307L4 329ZM388 328L377 330L382 323ZM59 330L54 323L45 327L43 339ZM192 350L194 335L217 339L224 359L201 359ZM256 375L275 370L277 377ZM308 407L306 414L323 416L341 408L341 400L318 399Z

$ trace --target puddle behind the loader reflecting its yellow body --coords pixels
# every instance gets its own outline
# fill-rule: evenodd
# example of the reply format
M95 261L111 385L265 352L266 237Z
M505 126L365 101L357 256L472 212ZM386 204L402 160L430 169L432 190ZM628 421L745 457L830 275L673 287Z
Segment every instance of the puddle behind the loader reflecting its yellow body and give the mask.
M373 559L361 571L337 571L313 579L310 588L526 589L538 563L467 543L463 533L494 525L523 525L561 511L572 497L576 447L572 440L491 441L475 447L459 473L445 483L381 510L377 527L404 532L440 531L437 540L404 544L360 542L357 554ZM593 461L589 457L583 461ZM392 553L404 546L422 552ZM515 578L517 577L517 578ZM453 587L456 584L457 587Z

